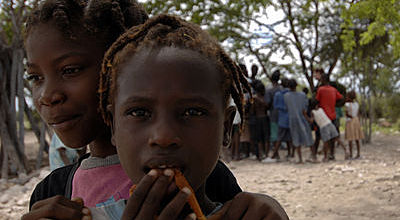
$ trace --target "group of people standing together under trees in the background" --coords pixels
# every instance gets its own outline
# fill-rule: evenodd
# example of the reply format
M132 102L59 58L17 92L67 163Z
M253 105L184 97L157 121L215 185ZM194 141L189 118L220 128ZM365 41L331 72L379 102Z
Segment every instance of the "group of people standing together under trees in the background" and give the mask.
M241 68L247 74L246 66L241 65ZM307 162L318 162L318 153L323 153L324 162L334 160L335 145L343 148L345 159L352 159L353 141L357 146L354 158L360 157L360 140L364 134L358 118L359 104L355 91L340 94L337 84L330 82L321 68L315 70L318 85L310 97L307 88L297 91L296 80L281 77L279 70L269 77L271 84L268 87L256 79L257 73L257 65L252 65L248 77L252 94L245 96L247 104L242 129L238 114L234 120L233 160L251 157L262 162L280 161L282 143L287 149L286 159L293 158L297 152L299 163L303 162L301 147L310 147ZM348 149L340 139L342 107L345 108ZM318 152L321 140L323 149Z

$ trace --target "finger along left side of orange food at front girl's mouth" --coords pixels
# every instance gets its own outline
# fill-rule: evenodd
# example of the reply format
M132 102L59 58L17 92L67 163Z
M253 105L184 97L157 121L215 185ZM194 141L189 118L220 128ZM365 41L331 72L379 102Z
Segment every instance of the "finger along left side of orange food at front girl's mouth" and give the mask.
M167 192L170 182L173 179L173 175L174 171L171 169L165 169L163 174L158 177L149 193L146 195L140 208L140 212L136 217L137 219L147 219L149 216L155 216L157 214L161 200Z

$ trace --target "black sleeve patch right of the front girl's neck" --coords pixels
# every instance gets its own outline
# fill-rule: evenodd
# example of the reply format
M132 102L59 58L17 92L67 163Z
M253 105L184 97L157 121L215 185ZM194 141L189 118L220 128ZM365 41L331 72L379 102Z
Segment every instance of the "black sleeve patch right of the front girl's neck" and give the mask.
M206 182L206 194L211 201L225 203L242 192L229 168L218 160Z

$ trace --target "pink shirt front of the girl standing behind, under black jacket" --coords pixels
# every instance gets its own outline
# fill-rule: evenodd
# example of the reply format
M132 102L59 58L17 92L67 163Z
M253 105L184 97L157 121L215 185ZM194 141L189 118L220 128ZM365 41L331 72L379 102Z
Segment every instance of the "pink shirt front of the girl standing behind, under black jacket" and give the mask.
M129 198L132 181L121 164L78 168L72 181L72 197L81 197L87 207Z

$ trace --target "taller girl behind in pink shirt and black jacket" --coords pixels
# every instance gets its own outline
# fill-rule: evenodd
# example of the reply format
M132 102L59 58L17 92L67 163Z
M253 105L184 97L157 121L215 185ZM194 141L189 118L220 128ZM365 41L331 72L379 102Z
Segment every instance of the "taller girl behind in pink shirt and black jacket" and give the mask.
M72 197L83 198L88 207L129 197L132 182L98 111L97 90L105 51L126 29L147 18L132 0L45 0L29 16L27 72L36 109L65 145L89 144L91 153L40 182L24 220L80 219L86 209L71 202ZM241 191L221 162L209 182L207 193L218 201Z

